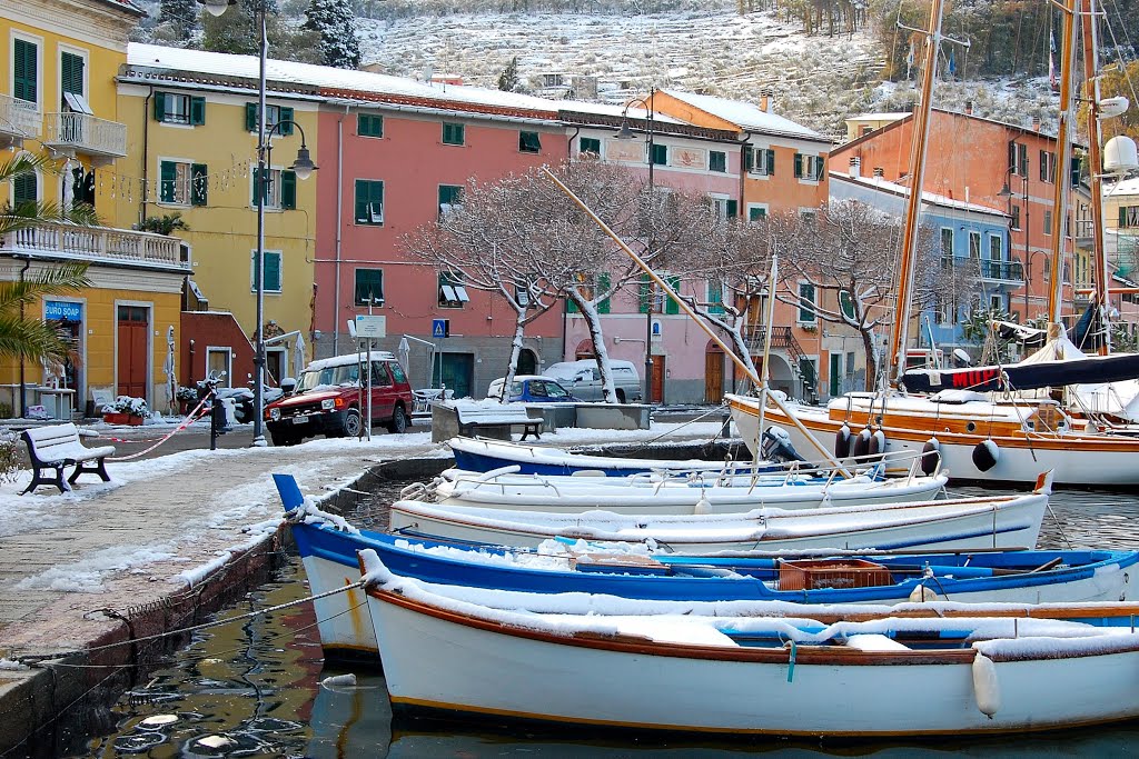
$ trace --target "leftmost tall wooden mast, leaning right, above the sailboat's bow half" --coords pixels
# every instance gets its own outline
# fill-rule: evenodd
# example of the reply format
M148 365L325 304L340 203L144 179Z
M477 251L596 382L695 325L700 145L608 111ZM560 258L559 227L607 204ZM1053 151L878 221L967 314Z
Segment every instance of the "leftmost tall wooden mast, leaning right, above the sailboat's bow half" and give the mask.
M906 371L906 343L910 324L910 303L913 299L913 256L917 249L918 216L921 211L921 188L925 182L926 139L929 134L929 113L933 106L933 83L937 76L937 56L941 51L941 17L943 0L933 0L929 8L929 31L926 35L925 63L921 69L921 100L913 113L913 139L910 143L910 196L906 204L906 224L902 238L901 265L898 274L898 304L894 329L890 333L886 361L894 361L896 387ZM887 377L891 377L887 365Z

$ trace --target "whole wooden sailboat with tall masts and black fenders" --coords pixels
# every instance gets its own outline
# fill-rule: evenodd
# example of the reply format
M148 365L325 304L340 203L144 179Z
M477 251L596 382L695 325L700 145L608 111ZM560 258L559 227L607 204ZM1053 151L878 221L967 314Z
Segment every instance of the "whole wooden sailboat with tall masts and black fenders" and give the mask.
M1070 0L1064 15L1060 86L1060 121L1057 162L1067 166L1071 156L1071 131L1075 119L1072 97L1072 69L1075 57L1074 22L1080 0ZM1087 22L1085 23L1090 23ZM834 398L825 407L798 403L764 404L760 398L727 396L732 416L744 440L752 446L765 424L786 428L796 446L806 446L806 438L817 445L830 446L839 459L851 454L891 453L901 455L925 453L929 467L937 459L956 479L1030 482L1041 469L1052 469L1057 485L1129 486L1139 482L1139 438L1105 434L1089 420L1073 415L1051 398L994 398L976 391L965 376L954 387L951 374L933 373L927 387L948 382L948 388L926 396L909 395L901 383L906 366L904 350L912 291L912 250L917 239L918 211L925 172L925 133L931 109L931 93L936 74L940 42L941 3L934 2L925 53L923 98L915 112L915 145L910 156L912 176L906 213L906 236L899 275L899 316L891 335L887 361L893 361L898 376L893 389L884 394L851 393ZM1096 151L1098 156L1098 150ZM1093 172L1095 173L1095 172ZM1067 217L1071 178L1060 171L1054 218ZM1096 206L1098 207L1098 206ZM1096 224L1099 224L1097 217ZM1065 236L1052 236L1052 271L1062 271ZM1097 263L1100 282L1106 267ZM1060 277L1054 277L1049 294L1049 338L1055 344L1065 340L1059 322ZM1106 291L1105 287L1100 288ZM1124 372L1128 369L1123 370ZM1007 381L999 369L993 376L978 372L973 379L985 382Z

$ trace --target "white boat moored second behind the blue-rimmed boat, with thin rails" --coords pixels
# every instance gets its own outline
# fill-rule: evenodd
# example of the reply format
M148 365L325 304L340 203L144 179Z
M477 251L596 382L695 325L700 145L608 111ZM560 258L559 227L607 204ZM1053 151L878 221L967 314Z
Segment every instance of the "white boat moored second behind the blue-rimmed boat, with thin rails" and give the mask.
M788 470L782 475L667 473L628 477L518 475L516 467L490 472L451 469L429 486L403 489L404 498L510 511L575 513L606 509L622 514L716 514L778 509L817 509L929 501L943 492L945 475L883 479L880 470L843 478Z

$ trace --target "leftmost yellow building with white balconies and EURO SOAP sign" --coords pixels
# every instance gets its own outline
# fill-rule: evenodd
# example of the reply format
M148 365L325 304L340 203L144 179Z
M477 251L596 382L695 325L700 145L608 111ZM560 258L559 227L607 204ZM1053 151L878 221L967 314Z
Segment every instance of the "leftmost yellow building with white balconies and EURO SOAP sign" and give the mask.
M0 187L0 207L26 200L87 201L106 226L41 224L0 239L0 278L34 278L60 262L90 263L91 286L34 306L75 343L64 368L0 362L0 403L19 414L43 405L57 418L115 395L170 405L169 345L178 345L188 269L179 241L114 228L128 126L115 76L130 30L146 14L129 0L0 3L0 148L47 155L54 170Z

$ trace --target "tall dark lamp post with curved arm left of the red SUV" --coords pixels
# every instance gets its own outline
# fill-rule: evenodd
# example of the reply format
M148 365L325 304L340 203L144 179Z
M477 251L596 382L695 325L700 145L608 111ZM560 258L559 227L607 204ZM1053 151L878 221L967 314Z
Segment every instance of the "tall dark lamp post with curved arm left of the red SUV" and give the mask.
M197 0L204 5L211 16L221 16L230 6L236 6L237 0ZM301 149L296 151L296 160L290 168L300 180L312 176L317 168L312 163L312 156L304 137L304 127L294 121L278 121L270 129L265 129L265 61L269 57L269 34L265 31L265 1L253 0L254 23L261 34L260 40L260 66L257 71L257 174L255 178L257 190L257 253L254 258L254 270L256 271L256 332L255 355L253 357L254 385L253 385L253 445L265 445L264 415L265 415L265 198L272 181L268 171L268 156L271 150L271 140L274 132L282 133L281 126L289 124L296 126L301 132Z

